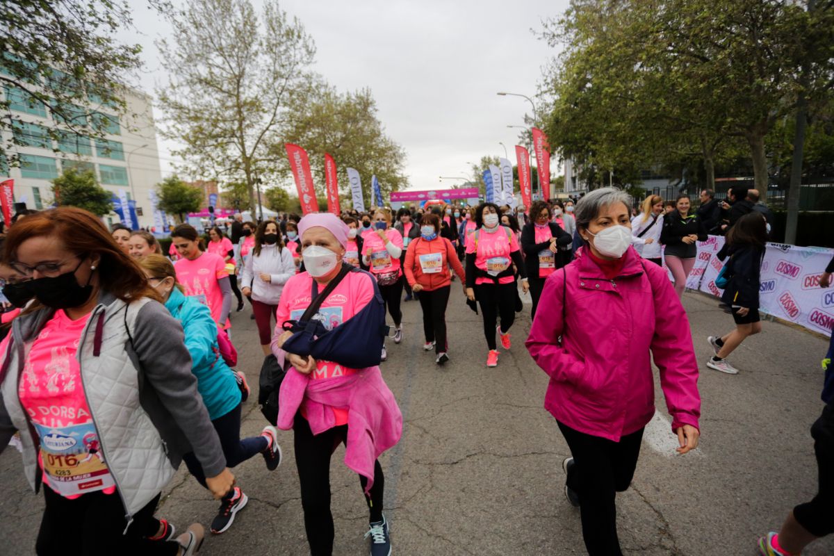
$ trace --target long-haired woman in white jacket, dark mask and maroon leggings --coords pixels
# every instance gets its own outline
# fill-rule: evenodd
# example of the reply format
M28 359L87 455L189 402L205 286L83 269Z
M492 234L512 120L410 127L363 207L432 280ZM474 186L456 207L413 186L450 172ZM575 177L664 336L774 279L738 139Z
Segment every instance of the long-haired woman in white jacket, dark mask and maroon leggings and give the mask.
M255 232L252 252L245 260L242 281L244 284L251 284L244 287L243 293L252 296L252 311L255 324L258 325L264 355L272 353L269 350L273 331L272 318L278 308L284 283L294 275L293 253L281 242L278 224L271 220L262 222Z

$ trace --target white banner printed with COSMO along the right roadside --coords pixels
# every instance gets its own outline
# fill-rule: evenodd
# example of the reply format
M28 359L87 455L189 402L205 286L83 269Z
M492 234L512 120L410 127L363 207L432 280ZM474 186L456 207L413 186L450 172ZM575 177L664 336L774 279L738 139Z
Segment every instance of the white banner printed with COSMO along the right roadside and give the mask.
M721 297L723 292L716 287L715 280L726 258L721 262L716 253L723 245L724 238L718 236L710 236L706 242L698 242L696 266L686 280L687 288L692 284L701 292ZM709 258L702 253L708 253ZM831 328L834 327L834 288L821 288L820 275L831 261L832 254L834 249L829 248L768 243L761 263L761 313L831 336ZM696 270L698 268L703 270Z

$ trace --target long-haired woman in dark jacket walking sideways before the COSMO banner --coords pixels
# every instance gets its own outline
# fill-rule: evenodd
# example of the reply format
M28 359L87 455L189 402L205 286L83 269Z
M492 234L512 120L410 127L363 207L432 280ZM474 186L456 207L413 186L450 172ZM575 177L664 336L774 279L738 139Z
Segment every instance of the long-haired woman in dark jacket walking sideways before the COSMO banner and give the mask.
M721 373L738 374L738 369L726 358L746 338L761 332L759 287L761 261L767 243L766 224L761 213L747 213L727 233L727 253L730 259L722 271L727 283L721 294L721 303L730 308L736 329L723 336L706 338L716 353L706 362L706 366Z

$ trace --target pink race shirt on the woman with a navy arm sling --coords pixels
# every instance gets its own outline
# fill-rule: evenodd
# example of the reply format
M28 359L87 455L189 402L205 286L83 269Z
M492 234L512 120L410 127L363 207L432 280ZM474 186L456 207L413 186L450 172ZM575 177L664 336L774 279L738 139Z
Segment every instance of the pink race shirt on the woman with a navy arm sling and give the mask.
M284 284L284 291L275 313L276 334L284 333L284 321L298 320L312 303L313 278L308 273L299 273ZM323 287L319 286L319 292ZM374 284L365 273L347 273L329 297L324 300L314 318L332 330L347 319L359 313L374 297ZM312 380L324 380L356 373L358 369L347 368L331 361L317 361L316 369L310 373ZM347 409L333 408L336 425L348 422Z

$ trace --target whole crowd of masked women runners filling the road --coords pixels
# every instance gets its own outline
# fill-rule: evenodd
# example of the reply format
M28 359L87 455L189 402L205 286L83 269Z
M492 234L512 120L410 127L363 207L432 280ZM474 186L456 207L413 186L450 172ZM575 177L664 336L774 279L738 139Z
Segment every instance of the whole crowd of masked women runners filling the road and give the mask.
M727 358L761 332L771 218L755 190L732 188L721 203L704 190L698 203L649 195L638 204L601 188L529 208L429 203L260 223L237 214L207 230L178 225L163 252L153 234L109 230L78 208L21 214L0 249L0 450L16 443L28 483L43 491L35 551L66 553L71 538L79 554L198 553L200 523L177 529L158 514L179 465L219 499L210 525L219 534L247 504L244 489L257 488L231 468L260 456L271 472L292 449L310 553L331 554L330 459L344 443L368 506L369 553L389 555L379 456L404 425L383 372L398 362L384 362L390 343L420 334L403 326L412 300L425 351L438 366L456 357L446 312L460 288L483 323L483 351L468 357L477 368L497 367L512 348L530 294L524 343L549 376L545 408L570 448L565 496L587 552L617 556L615 497L631 484L655 413L652 362L678 453L698 446L700 370L681 303L696 244L726 236L721 306L734 327L696 341L714 350L704 368L735 374ZM819 272L828 287L834 260ZM240 435L249 382L234 346L255 338L229 318L244 311L264 354L249 403L267 420L249 438ZM834 343L811 428L819 492L762 536L766 556L799 554L834 532L832 356ZM293 431L292 448L282 451L279 429Z

